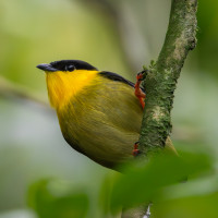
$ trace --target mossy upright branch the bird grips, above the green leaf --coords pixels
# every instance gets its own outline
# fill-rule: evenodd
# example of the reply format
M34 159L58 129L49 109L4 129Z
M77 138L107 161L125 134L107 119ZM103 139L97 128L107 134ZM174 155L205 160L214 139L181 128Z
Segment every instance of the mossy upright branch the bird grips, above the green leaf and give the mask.
M171 132L173 93L184 60L196 44L197 0L172 0L164 47L145 80L146 106L140 150L143 156L162 148Z

